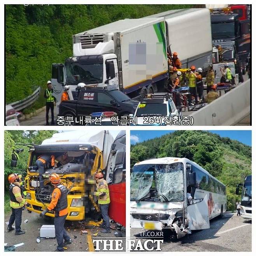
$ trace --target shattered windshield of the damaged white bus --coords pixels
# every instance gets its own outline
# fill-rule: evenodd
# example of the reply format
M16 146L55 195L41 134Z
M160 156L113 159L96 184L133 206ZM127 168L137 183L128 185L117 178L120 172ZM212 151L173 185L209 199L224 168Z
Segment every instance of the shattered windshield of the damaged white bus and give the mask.
M183 201L183 181L182 163L135 165L131 174L131 200L140 200L146 196L143 201Z

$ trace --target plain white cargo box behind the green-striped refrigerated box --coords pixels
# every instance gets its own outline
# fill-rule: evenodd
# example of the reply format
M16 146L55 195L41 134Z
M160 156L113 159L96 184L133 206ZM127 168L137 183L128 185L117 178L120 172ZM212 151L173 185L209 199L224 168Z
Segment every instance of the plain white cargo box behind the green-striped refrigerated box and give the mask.
M207 8L178 9L145 18L165 19L167 46L177 52L182 68L191 65L207 69L211 63L212 34L210 11Z

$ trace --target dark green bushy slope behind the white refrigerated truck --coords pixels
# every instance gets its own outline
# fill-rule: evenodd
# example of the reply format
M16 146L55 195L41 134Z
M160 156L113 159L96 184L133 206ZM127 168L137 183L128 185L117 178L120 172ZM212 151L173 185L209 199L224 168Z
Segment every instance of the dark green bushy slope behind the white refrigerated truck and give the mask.
M124 18L193 5L5 5L6 103L46 87L52 63L72 56L72 35ZM43 90L42 90L43 91ZM43 92L30 108L44 105Z

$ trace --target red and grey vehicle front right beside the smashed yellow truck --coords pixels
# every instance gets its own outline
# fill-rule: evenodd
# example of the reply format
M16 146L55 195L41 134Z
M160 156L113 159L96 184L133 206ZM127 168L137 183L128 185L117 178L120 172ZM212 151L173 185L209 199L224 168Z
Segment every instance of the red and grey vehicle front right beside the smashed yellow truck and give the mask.
M125 227L125 131L114 140L107 167L106 181L109 186L109 217Z

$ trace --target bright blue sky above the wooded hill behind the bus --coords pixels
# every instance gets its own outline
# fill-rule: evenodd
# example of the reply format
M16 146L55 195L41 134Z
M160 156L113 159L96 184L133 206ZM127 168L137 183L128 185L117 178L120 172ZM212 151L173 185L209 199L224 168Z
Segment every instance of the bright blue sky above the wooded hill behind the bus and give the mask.
M161 137L164 134L172 133L174 131L131 131L131 144L142 142L144 140L153 139L155 137ZM251 131L212 131L209 132L217 133L221 137L229 137L231 140L238 140L245 145L252 146L252 132Z

